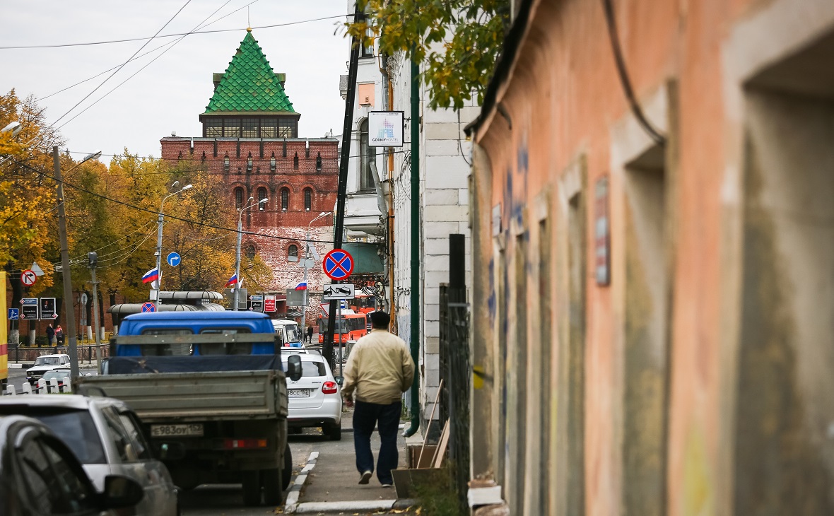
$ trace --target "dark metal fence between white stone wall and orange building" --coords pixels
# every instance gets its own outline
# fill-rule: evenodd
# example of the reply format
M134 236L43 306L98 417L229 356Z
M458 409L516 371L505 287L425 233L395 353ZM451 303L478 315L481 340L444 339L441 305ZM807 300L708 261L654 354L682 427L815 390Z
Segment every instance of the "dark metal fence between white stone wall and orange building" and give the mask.
M449 421L449 458L455 488L466 506L470 475L469 304L465 287L440 284L440 421Z

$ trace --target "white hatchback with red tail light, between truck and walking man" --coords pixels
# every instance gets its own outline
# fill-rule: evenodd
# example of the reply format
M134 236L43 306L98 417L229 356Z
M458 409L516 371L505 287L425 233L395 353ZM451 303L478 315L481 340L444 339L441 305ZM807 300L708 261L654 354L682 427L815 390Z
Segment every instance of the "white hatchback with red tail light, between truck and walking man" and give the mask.
M301 378L287 378L289 414L287 428L321 427L334 441L342 438L342 395L339 383L324 357L318 353L281 352L286 368L291 355L301 358Z

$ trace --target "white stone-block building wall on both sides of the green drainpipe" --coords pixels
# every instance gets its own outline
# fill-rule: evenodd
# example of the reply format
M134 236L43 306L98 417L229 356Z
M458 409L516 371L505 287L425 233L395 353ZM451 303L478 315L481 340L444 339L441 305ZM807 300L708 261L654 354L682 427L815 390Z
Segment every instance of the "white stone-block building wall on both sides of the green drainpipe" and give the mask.
M410 64L397 56L390 60L394 83L394 110L410 117ZM466 271L470 276L469 193L470 143L463 128L477 113L474 104L458 113L451 109L433 111L421 88L420 116L420 271L411 268L411 192L408 153L394 159L394 283L397 293L399 328L406 328L410 317L411 274L420 273L420 364L425 375L420 380L420 403L424 418L440 383L440 283L449 282L449 235L466 235ZM409 126L409 124L407 124ZM410 141L410 126L406 128ZM407 148L410 151L410 148ZM409 334L400 333L409 341ZM435 413L435 418L438 415Z

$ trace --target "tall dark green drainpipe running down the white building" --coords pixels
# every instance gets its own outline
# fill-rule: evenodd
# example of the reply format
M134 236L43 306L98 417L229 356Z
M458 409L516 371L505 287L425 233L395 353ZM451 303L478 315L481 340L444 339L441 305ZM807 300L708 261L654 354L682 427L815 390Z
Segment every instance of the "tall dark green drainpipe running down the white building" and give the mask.
M404 436L420 429L420 64L411 53L411 427Z

